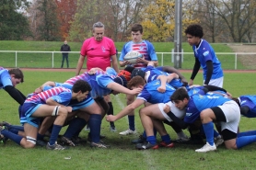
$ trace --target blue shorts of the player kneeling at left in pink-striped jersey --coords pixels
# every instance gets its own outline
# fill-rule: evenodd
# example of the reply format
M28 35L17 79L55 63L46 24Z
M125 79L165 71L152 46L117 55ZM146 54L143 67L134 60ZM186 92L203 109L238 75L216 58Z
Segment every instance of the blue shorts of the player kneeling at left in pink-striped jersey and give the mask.
M32 117L31 115L39 108L42 104L35 103L24 103L21 108L20 123L29 123L29 125L38 128L41 124L41 119L38 117Z

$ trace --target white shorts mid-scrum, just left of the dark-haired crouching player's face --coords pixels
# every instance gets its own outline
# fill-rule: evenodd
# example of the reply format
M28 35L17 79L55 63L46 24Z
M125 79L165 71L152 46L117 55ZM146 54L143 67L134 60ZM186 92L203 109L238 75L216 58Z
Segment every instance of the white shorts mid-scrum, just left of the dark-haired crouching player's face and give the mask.
M164 111L164 108L166 105L169 105L169 108L171 110L171 112L177 117L177 118L180 118L180 119L183 119L184 116L185 116L185 109L182 109L180 110L179 108L176 108L175 105L169 101L168 103L159 103L158 104L158 108L160 109L162 115L169 121L172 121L172 119L169 118L169 116L166 114L166 112Z

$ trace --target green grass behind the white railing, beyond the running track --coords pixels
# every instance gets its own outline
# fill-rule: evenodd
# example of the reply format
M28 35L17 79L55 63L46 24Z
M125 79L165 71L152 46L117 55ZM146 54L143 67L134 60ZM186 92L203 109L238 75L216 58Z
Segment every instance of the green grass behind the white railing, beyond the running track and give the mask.
M19 51L17 52L17 67L24 68L60 68L62 61L61 53L52 52L20 52L20 51L60 51L63 42L56 41L13 41L13 40L1 40L0 51ZM69 54L69 67L76 68L76 64L79 58L79 51L82 46L82 42L68 42L72 51L76 53ZM119 52L122 51L124 42L116 42L116 48ZM153 42L156 52L171 52L174 48L172 42ZM233 52L226 44L212 44L215 52ZM192 52L192 47L187 43L182 43L182 49L184 52ZM53 59L52 59L53 55ZM159 65L173 66L171 62L171 55L164 54L163 60L161 54L157 54ZM182 69L192 69L194 63L193 54L184 54L184 62L181 63ZM217 55L220 62L222 62L222 68L225 70L235 69L235 56L229 54ZM1 66L4 67L16 67L16 53L15 52L0 52ZM53 65L52 65L53 62ZM86 65L86 64L85 64ZM65 67L65 65L64 65ZM238 61L238 69L247 69L246 65L242 65Z

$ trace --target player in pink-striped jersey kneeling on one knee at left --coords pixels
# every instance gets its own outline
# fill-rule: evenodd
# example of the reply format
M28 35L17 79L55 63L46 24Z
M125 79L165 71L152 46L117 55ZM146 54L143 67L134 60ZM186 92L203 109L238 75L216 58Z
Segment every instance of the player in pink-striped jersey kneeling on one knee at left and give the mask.
M58 134L64 125L67 114L72 112L71 107L67 107L70 101L82 102L91 90L87 82L79 80L69 90L64 87L54 87L39 94L34 94L26 99L21 110L20 122L24 124L26 138L1 128L1 133L24 148L32 148L37 142L37 132L41 118L56 117L53 123L50 142L46 149L64 150L64 147L57 144Z

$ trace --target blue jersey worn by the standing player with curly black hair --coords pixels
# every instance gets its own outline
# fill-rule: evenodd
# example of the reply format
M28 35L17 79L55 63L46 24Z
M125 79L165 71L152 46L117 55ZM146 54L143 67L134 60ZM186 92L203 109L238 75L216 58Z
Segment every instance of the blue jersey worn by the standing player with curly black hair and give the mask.
M217 79L217 78L223 77L221 63L218 61L215 55L214 49L206 40L202 39L198 48L196 48L196 46L193 45L192 50L194 51L194 57L196 57L199 60L201 67L204 70L204 80L206 79L206 74L207 74L207 67L206 67L207 61L212 61L214 66L211 79Z

